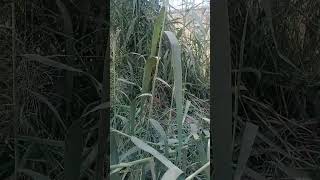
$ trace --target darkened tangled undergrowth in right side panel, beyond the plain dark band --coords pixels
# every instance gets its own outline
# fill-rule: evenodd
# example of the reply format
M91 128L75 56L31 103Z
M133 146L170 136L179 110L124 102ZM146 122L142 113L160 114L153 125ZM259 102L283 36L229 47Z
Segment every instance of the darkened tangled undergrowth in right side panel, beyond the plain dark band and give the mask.
M258 126L247 134L256 137L247 149L253 179L319 178L319 7L319 1L230 1L239 89L234 154L245 123Z

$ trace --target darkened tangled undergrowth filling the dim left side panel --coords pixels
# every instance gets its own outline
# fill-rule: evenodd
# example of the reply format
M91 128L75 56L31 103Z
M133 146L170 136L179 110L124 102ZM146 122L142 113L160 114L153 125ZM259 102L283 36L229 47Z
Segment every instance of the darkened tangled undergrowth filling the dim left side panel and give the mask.
M95 176L103 2L1 1L0 179Z

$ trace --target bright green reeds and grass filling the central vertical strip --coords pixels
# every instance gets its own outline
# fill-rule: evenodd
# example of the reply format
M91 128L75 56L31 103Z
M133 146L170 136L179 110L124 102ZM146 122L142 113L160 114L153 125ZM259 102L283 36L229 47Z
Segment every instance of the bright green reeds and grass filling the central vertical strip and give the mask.
M209 179L204 15L194 4L185 6L190 12L156 1L112 7L111 178Z

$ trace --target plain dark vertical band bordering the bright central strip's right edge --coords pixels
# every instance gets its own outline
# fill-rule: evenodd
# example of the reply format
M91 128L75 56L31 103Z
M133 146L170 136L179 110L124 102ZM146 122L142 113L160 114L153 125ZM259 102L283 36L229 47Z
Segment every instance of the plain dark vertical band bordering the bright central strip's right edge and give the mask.
M211 177L232 180L231 47L227 0L210 1L210 26Z

